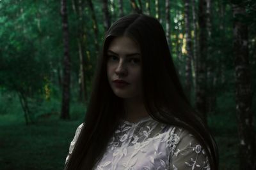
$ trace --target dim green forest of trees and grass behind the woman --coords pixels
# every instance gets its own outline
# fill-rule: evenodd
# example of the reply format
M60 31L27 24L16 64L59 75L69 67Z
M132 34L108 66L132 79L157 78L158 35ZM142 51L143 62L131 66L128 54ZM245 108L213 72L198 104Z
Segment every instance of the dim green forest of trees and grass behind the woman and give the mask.
M0 0L0 167L63 169L83 122L104 34L157 18L220 169L256 169L256 1Z

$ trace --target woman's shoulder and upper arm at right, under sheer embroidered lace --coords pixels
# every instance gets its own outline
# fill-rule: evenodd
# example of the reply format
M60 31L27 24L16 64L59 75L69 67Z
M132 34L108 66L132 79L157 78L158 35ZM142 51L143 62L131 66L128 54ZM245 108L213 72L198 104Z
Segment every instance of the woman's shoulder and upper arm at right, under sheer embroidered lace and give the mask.
M204 146L188 129L172 125L166 136L173 169L210 169Z

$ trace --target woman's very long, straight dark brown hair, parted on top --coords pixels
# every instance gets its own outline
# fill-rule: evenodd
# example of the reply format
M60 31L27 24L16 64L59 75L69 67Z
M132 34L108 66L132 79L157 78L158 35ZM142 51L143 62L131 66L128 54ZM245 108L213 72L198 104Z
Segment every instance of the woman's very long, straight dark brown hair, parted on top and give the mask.
M106 34L84 127L65 168L92 169L123 116L122 99L113 94L106 73L106 50L116 36L129 36L140 45L143 99L148 114L158 122L193 133L204 146L212 169L218 169L216 142L182 90L163 27L155 18L139 14L120 18Z

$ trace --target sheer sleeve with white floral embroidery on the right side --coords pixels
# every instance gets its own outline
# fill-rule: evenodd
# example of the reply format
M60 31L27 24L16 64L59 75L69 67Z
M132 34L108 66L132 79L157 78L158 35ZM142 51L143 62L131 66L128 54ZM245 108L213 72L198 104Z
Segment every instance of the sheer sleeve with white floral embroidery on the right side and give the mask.
M170 169L172 170L190 170L204 169L210 170L207 154L198 140L184 129L177 133L179 143L177 143L173 152L170 153Z

